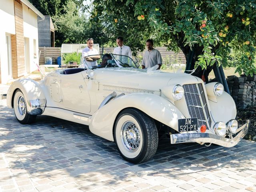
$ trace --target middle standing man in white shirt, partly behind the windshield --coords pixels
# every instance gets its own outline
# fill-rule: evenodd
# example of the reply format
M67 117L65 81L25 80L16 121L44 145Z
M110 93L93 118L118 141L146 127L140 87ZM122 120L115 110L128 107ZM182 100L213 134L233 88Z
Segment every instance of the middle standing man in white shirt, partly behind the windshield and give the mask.
M125 55L125 56L132 58L132 51L131 51L130 47L124 45L124 39L122 37L118 37L116 39L116 43L117 43L118 47L114 48L113 54ZM118 56L118 59L123 63L128 63L127 57Z

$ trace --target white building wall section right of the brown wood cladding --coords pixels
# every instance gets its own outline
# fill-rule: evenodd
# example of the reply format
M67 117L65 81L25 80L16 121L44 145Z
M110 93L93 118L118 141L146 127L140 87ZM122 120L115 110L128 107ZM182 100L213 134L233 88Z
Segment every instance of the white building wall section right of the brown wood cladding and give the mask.
M28 73L37 70L36 64L39 64L38 56L38 28L37 28L37 15L30 8L23 4L23 30L24 37L29 39L29 54L28 62L29 70ZM34 55L34 39L36 40L36 55Z

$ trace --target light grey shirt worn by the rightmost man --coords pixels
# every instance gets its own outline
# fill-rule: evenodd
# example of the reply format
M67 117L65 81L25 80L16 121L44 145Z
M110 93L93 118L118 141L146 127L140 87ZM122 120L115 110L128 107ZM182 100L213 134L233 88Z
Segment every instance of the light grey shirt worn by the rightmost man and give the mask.
M160 52L156 49L152 49L151 51L146 50L143 55L142 65L144 65L145 68L150 68L156 64L162 65L162 56Z

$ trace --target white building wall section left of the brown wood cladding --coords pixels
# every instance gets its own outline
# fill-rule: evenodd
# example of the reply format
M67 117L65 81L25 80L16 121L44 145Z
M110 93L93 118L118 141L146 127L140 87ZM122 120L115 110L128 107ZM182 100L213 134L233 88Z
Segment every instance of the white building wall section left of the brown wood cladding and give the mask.
M8 76L6 35L15 34L15 18L14 18L13 0L4 0L4 3L0 3L0 18L1 18L0 19L1 80L2 80L2 83L5 84L11 78L11 76Z

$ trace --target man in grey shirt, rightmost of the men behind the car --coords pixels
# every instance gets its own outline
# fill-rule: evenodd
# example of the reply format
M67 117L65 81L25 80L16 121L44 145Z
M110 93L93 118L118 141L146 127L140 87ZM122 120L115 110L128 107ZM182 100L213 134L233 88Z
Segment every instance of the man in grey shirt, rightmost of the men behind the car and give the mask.
M151 68L155 65L158 65L157 69L160 69L162 66L162 56L158 50L153 48L153 45L154 43L152 39L146 41L148 50L143 55L142 69Z

